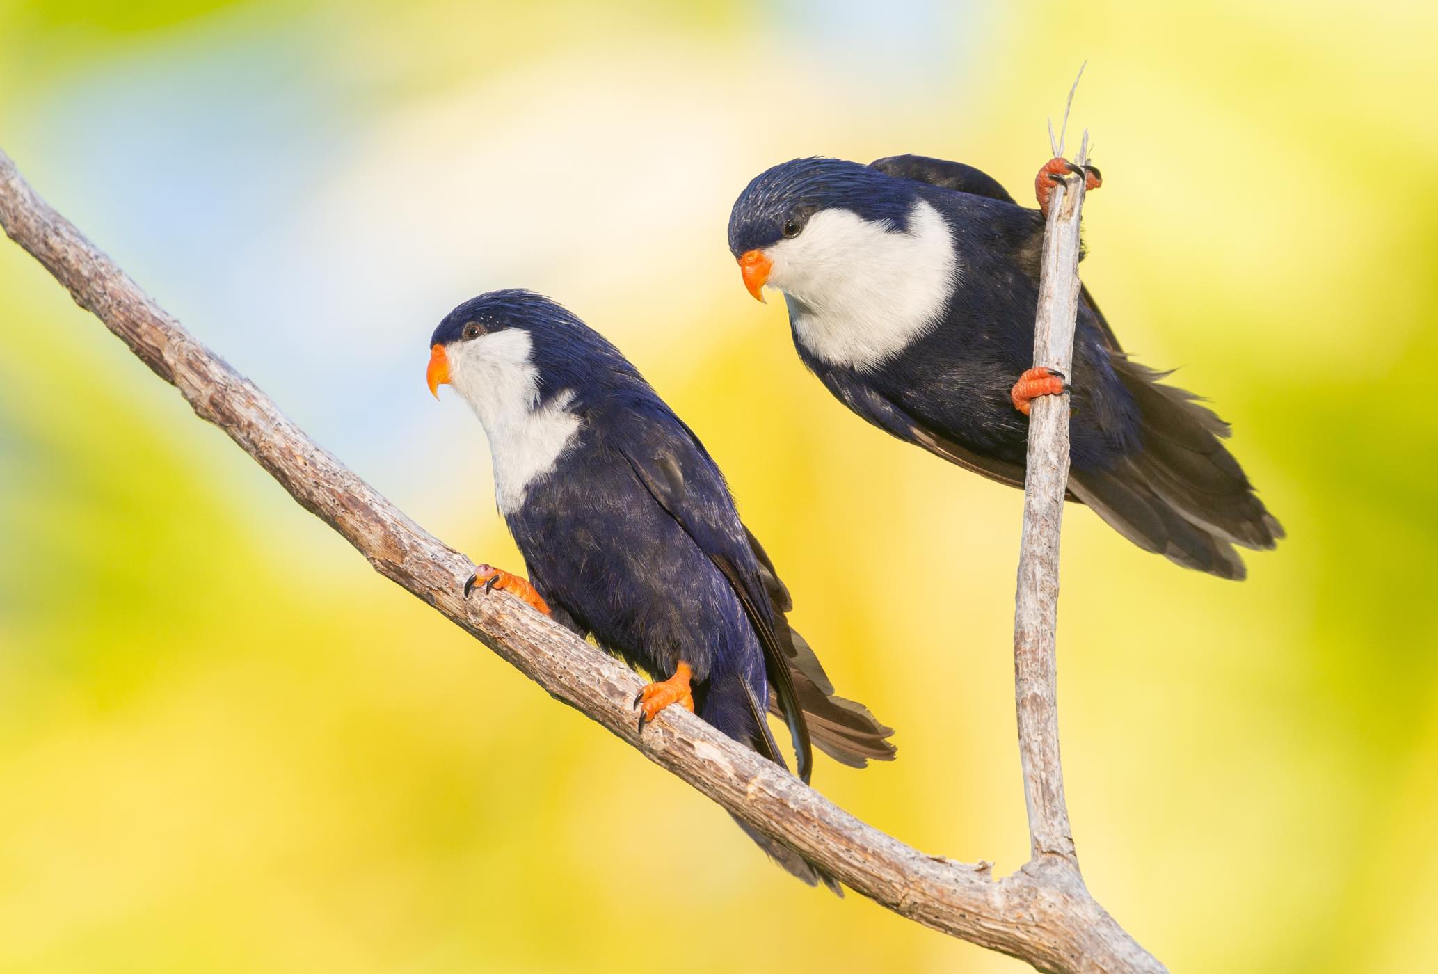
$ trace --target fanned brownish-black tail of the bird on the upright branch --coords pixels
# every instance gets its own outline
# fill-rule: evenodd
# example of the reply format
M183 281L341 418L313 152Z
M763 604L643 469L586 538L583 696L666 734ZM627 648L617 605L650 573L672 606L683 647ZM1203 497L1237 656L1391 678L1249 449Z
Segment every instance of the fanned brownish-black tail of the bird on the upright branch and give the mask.
M1070 491L1145 551L1242 578L1234 545L1273 548L1284 534L1219 442L1228 423L1192 393L1160 384L1166 373L1119 354L1113 365L1139 407L1143 449L1113 469L1071 473Z

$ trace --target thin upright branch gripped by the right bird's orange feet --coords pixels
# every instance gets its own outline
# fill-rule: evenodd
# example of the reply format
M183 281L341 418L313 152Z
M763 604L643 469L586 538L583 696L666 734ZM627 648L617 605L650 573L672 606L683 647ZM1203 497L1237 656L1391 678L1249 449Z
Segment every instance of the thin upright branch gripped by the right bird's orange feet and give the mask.
M1078 165L1089 154L1084 132ZM1034 365L1073 376L1074 321L1078 314L1078 219L1084 180L1054 187L1044 229L1034 322ZM1061 856L1077 869L1064 773L1058 760L1057 620L1058 534L1068 483L1068 394L1032 401L1028 417L1028 470L1024 476L1024 540L1014 606L1014 682L1018 748L1034 859Z

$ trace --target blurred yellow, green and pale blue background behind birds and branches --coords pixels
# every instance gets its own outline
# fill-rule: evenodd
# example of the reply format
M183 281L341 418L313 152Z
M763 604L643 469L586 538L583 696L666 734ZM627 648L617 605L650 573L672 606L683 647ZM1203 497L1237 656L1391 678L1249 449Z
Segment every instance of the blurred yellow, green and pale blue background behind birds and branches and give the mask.
M1106 184L1084 278L1290 532L1229 584L1070 509L1068 800L1176 971L1402 971L1438 925L1432 3L0 0L0 145L321 443L518 567L433 325L529 286L731 478L896 764L815 784L1027 853L1021 496L867 427L745 293L729 206L828 154ZM644 856L683 850L649 875ZM664 937L672 961L644 960ZM669 951L677 951L669 954ZM0 971L1015 971L768 865L381 580L0 246Z

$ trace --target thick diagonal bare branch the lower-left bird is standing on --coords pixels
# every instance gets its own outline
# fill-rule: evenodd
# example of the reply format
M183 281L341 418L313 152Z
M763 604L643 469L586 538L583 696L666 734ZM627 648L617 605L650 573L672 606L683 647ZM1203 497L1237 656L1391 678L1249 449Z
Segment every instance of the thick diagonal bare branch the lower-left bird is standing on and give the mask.
M984 863L926 856L864 824L679 708L666 709L637 734L631 702L640 679L631 670L506 594L466 600L462 586L472 570L467 558L418 528L309 440L253 383L190 337L40 200L4 153L0 224L69 289L76 304L175 386L197 416L224 430L375 571L755 829L902 916L1040 970L1163 970L1093 901L1076 869L1071 876L1051 876L1035 868L1035 859L995 880ZM1040 403L1034 411L1040 411ZM1057 551L1057 542L1054 547ZM1047 704L1053 704L1051 693Z

